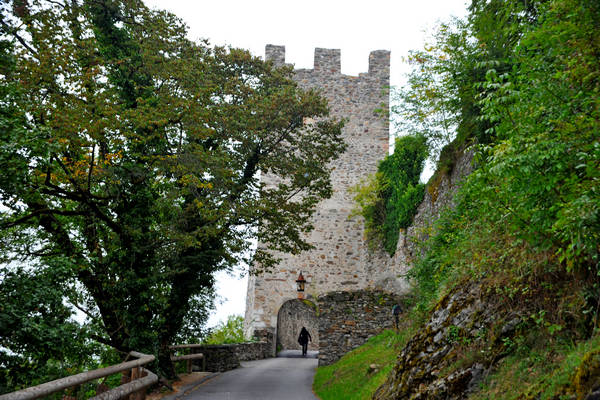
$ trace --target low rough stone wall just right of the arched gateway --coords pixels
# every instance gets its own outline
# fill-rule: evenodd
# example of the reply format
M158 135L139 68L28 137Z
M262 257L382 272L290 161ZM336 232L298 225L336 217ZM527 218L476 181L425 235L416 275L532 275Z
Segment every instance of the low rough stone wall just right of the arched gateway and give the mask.
M336 362L371 336L393 327L398 295L360 290L319 297L319 365ZM404 307L403 307L404 308Z

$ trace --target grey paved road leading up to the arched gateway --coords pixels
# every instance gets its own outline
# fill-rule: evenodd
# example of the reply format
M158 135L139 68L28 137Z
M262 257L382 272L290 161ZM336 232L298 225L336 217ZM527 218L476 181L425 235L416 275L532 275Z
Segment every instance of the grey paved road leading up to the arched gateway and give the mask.
M180 399L317 400L312 382L318 361L314 353L308 358L299 355L299 351L286 351L277 358L242 362L240 368L205 381Z

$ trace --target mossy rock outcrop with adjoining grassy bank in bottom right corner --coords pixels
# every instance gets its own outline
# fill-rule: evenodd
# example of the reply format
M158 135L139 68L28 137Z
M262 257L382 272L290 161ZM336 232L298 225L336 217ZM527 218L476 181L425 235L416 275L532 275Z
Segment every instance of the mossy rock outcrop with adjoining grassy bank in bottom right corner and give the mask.
M539 331L531 309L507 302L490 284L463 281L444 296L373 398L599 398L598 338L579 348L557 343ZM552 294L531 296L540 295Z

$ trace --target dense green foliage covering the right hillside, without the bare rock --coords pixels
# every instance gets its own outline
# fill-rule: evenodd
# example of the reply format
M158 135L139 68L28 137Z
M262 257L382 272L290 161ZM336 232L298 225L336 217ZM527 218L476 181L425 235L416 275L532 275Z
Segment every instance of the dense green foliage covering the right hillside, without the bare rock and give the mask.
M454 285L482 282L522 325L498 339L501 355L490 362L506 358L471 397L584 398L600 375L600 4L492 0L470 11L460 62L431 61L449 75L429 82L449 94L449 83L468 77L470 89L455 85L455 99L472 107L448 109L458 130L452 147L470 138L475 171L455 207L423 232L429 240L409 272L413 318L427 320ZM438 39L435 49L453 49L448 35ZM433 101L413 100L424 108ZM439 137L424 132L430 142ZM448 336L473 351L456 329Z

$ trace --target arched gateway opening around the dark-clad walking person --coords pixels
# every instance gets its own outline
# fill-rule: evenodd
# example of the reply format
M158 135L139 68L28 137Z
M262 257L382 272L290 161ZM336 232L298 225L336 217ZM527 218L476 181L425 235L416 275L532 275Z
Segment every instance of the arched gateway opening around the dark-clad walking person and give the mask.
M317 306L310 300L288 300L279 309L277 314L277 351L299 350L298 335L305 327L312 342L309 350L319 350L319 319Z

